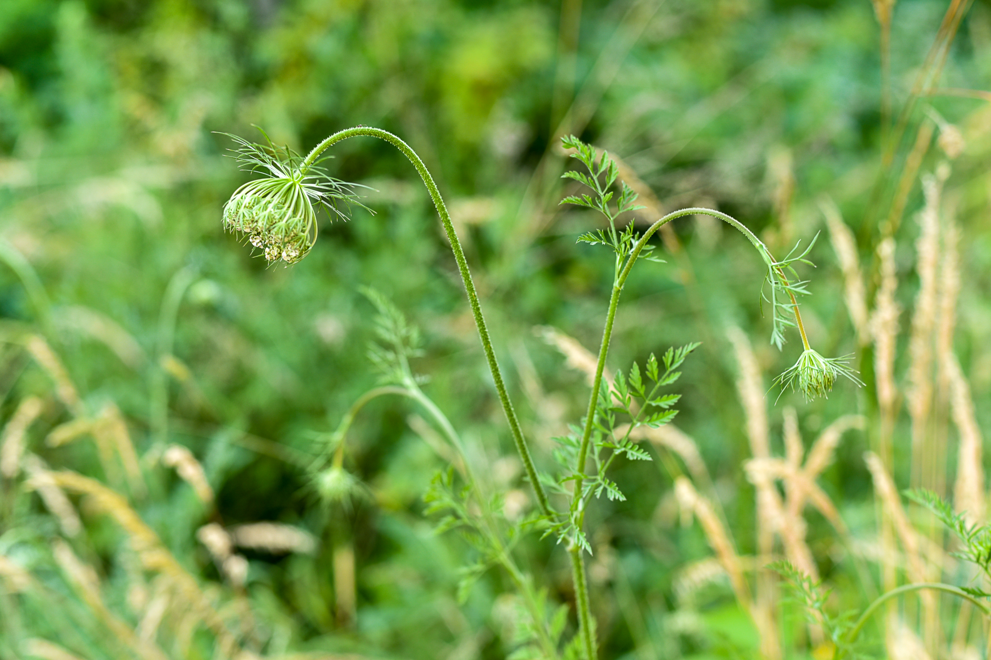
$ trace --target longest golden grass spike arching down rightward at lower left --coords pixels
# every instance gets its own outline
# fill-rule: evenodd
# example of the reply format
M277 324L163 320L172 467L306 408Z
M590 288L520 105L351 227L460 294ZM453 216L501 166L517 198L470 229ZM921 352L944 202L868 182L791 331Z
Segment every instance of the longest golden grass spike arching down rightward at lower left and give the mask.
M89 495L97 510L110 515L126 533L131 548L138 555L145 570L165 576L172 586L175 601L191 609L193 628L199 623L205 624L216 636L218 652L228 657L233 654L237 648L237 640L227 629L223 619L210 603L210 599L199 588L196 580L186 573L168 552L158 534L128 505L123 495L74 472L48 474L59 488L80 495Z

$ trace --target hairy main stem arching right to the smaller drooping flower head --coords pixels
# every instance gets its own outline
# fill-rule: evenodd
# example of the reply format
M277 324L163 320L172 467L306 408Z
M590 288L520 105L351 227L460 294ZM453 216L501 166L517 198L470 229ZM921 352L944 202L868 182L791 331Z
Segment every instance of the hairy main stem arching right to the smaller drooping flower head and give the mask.
M774 266L775 261L771 257L771 253L768 251L767 246L765 246L764 243L741 222L720 211L709 208L683 208L667 214L652 224L650 228L643 233L643 236L640 237L640 239L633 246L633 249L630 251L629 257L627 257L626 263L622 270L618 273L618 275L616 275L615 281L612 284L612 294L609 297L609 309L606 313L606 328L603 330L603 343L599 349L599 361L596 364L596 376L592 382L592 394L589 396L589 408L585 418L585 429L582 433L582 444L578 451L578 465L576 466L578 479L575 480L575 492L571 501L571 513L573 516L577 516L579 527L581 527L585 518L585 512L579 512L579 507L583 497L585 496L585 464L589 457L589 445L591 444L592 431L595 425L596 404L599 401L599 392L602 388L603 373L606 370L606 356L609 350L609 340L612 337L612 326L615 322L616 308L619 305L619 296L622 294L623 284L625 284L626 278L633 269L633 264L636 263L636 260L639 258L640 253L647 244L647 241L650 240L650 237L667 223L686 215L711 215L731 225L732 227L735 227L747 238L747 240L750 241L753 247L757 249L757 252L760 253L761 259L764 260L767 267L772 271L776 270L778 275L784 278L784 274L780 272L780 269L776 269ZM787 285L787 280L784 281ZM789 295L792 295L791 291L789 291ZM802 316L799 312L798 301L795 299L794 295L792 295L792 302L794 303L795 318L802 333L802 341L805 348L808 349L809 342L805 336L805 326L802 324ZM588 583L585 580L585 567L582 563L581 549L576 545L575 548L572 548L571 554L575 581L576 603L579 607L579 621L583 622L582 629L583 634L586 636L586 653L588 654L589 660L594 660L596 655L595 645L592 641L592 630L591 626L586 624L586 622L591 621L592 613L589 610Z

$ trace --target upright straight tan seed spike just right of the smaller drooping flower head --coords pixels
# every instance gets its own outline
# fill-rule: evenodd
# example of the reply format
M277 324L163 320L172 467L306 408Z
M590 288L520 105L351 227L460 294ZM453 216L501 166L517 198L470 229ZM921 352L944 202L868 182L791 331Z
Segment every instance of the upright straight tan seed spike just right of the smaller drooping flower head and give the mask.
M895 352L898 342L898 316L901 309L895 300L898 276L895 271L895 239L887 238L878 246L881 262L881 286L876 307L871 314L871 337L874 339L874 380L882 415L894 420L898 399L895 385Z

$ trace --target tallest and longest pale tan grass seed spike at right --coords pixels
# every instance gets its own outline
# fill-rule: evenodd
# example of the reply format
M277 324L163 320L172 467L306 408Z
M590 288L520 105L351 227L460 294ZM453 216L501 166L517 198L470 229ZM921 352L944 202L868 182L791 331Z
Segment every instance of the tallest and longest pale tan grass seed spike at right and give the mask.
M922 232L916 242L916 271L919 274L919 293L912 316L912 334L909 337L909 414L912 417L913 471L921 468L922 447L928 431L933 398L933 331L936 325L937 269L939 266L939 191L936 176L923 177L926 205L919 214Z

